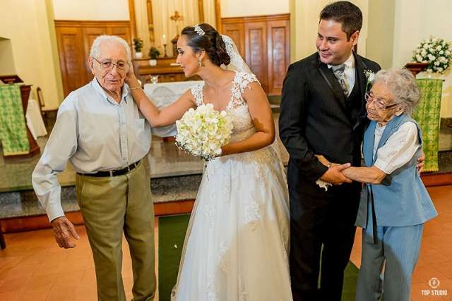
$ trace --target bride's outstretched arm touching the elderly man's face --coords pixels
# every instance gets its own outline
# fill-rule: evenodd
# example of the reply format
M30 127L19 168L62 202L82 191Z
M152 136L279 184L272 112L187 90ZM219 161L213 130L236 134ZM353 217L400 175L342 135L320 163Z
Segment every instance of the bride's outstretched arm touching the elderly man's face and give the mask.
M141 85L133 72L127 74L126 83L131 88L131 94L133 100L136 102L136 106L138 106L138 109L153 127L171 125L182 118L182 115L184 115L186 111L195 106L193 95L191 95L191 91L188 90L182 94L176 102L169 106L165 106L165 108L159 111L157 106L150 101L143 89L136 89L137 87L141 87Z

